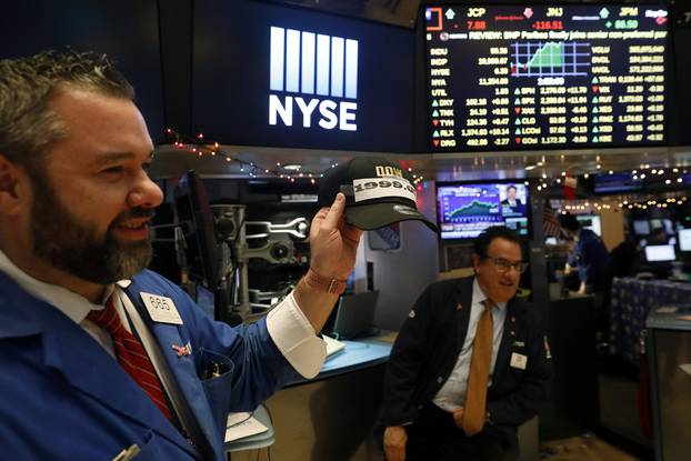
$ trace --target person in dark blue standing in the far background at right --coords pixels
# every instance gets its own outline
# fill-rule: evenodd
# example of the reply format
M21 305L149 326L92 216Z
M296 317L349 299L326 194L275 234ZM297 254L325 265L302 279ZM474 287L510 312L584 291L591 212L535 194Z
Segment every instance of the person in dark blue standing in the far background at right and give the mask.
M568 234L567 238L573 239L573 250L564 267L564 275L578 270L580 294L604 293L611 282L611 267L610 253L602 239L590 229L583 229L571 213L560 214L559 223Z

